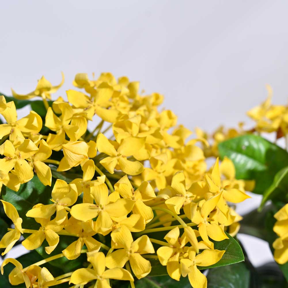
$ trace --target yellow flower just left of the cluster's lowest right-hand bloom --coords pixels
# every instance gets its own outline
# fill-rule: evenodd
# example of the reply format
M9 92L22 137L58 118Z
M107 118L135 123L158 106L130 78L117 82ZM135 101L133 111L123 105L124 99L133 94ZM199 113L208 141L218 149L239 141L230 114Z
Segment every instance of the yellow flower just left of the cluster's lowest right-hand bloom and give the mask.
M167 272L169 276L179 281L181 276L180 259L188 252L188 247L185 247L188 239L183 233L180 237L179 228L174 228L169 231L164 239L170 244L170 246L162 246L157 250L159 261L162 265L167 265Z

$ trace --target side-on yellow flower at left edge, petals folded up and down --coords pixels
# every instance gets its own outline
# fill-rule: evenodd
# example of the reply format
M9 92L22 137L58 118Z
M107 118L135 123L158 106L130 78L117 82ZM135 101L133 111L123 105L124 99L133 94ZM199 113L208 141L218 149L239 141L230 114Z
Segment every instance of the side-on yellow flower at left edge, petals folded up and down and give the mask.
M3 204L5 214L8 218L10 218L15 226L15 229L10 230L7 232L0 241L0 248L6 248L5 251L2 253L2 256L5 255L10 251L10 249L13 247L13 245L19 240L22 231L22 218L19 217L19 214L16 210L16 208L10 204L9 202L6 202L4 200L0 200Z

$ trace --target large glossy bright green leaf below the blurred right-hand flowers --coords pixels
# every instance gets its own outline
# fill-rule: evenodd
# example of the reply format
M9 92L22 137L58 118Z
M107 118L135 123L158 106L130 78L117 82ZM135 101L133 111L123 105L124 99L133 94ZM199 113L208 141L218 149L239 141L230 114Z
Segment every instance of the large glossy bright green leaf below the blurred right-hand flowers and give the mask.
M248 134L221 142L220 158L230 158L236 168L237 179L255 180L254 193L263 194L274 176L288 164L288 153L257 135Z

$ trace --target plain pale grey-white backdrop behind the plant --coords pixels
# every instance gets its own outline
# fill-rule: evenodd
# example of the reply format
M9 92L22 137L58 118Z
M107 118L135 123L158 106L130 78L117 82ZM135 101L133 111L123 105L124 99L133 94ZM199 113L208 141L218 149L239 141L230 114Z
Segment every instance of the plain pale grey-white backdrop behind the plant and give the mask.
M42 75L58 84L63 71L55 96L65 96L75 73L109 71L164 94L190 129L249 126L245 112L265 99L265 84L286 104L287 12L287 1L1 1L0 91L30 92ZM272 259L264 242L241 239L253 264Z

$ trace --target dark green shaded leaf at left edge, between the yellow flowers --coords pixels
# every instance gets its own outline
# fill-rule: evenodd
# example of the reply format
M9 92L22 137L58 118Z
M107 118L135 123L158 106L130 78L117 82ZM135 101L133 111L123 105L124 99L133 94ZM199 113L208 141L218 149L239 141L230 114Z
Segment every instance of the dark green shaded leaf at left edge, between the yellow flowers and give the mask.
M34 218L26 217L26 213L37 203L51 204L51 187L44 186L37 175L34 175L33 179L20 186L18 192L3 185L1 196L3 200L11 203L17 209L19 216L23 219L23 228L37 229L39 224Z

